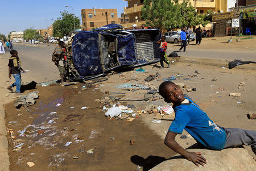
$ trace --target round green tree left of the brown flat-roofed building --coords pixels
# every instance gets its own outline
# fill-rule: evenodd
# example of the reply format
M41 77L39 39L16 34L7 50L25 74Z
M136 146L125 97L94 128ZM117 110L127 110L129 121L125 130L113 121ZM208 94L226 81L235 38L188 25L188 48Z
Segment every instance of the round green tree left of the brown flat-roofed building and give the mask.
M55 20L52 24L53 26L53 36L55 37L63 37L67 35L70 31L74 30L74 22L75 18L75 26L76 28L80 28L80 19L76 15L68 13L68 11L60 12L61 17Z

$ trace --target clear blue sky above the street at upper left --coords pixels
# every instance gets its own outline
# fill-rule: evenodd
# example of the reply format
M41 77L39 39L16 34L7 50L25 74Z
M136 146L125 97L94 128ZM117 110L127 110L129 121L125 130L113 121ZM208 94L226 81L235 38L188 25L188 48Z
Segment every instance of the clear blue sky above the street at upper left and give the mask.
M123 13L127 1L123 0L0 0L0 33L24 31L27 28L44 29L60 17L60 11L67 10L81 19L82 9L117 9L118 17ZM42 19L44 18L44 19Z

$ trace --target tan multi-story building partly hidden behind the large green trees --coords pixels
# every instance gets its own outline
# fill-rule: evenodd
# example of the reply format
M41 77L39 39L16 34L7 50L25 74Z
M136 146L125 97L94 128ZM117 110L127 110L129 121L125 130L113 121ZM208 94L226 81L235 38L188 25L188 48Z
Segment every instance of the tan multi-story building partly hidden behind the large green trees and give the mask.
M141 9L144 5L144 0L123 0L127 1L128 6L124 7L123 14L129 16L129 22L125 22L122 26L126 29L133 28L133 24L137 24L141 27L144 24L144 20L141 18ZM212 9L214 12L226 12L228 0L187 0L191 2L191 5L195 7L199 14L204 14L208 10ZM182 3L183 0L179 0Z

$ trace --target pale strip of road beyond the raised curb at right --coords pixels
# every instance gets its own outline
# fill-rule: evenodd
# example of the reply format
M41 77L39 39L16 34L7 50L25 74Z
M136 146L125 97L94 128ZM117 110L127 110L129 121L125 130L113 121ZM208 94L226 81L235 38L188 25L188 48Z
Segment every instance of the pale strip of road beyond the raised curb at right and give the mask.
M169 45L169 44L168 44ZM184 57L198 57L198 58L204 58L204 59L222 59L222 60L245 60L245 61L256 61L256 52L234 52L234 51L225 51L225 50L204 50L204 49L189 49L189 46L187 46L186 53L184 52L178 52L180 46L174 45L170 46L170 48L167 49L167 54L170 54L171 52L176 51L179 56Z

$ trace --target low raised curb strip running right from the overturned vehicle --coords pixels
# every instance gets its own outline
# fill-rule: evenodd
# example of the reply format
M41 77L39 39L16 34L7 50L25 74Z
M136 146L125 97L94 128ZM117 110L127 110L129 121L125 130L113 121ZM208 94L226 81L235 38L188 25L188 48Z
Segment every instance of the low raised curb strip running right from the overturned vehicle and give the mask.
M173 57L172 59L176 59L177 62L186 62L191 64L201 64L201 65L212 65L212 66L224 66L228 68L228 63L231 60L219 60L219 59L203 59L203 58L196 58L196 57ZM245 64L245 65L238 65L235 68L238 69L251 69L256 70L255 64Z

